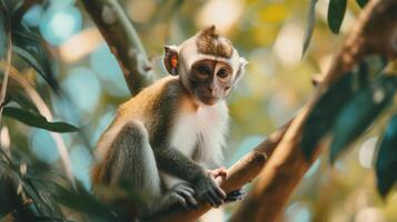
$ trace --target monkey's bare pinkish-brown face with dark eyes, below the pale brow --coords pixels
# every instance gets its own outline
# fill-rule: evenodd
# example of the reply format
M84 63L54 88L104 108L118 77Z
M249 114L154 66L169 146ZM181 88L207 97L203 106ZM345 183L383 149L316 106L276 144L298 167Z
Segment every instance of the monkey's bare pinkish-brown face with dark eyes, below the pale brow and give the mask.
M199 60L191 65L185 87L196 100L212 105L230 93L234 80L234 70L228 63Z

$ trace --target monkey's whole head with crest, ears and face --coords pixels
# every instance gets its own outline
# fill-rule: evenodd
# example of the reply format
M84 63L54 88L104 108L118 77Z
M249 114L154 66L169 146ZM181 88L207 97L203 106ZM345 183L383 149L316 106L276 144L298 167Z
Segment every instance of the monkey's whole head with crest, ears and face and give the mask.
M201 30L179 47L165 47L163 62L170 74L179 74L195 100L207 105L230 93L248 63L228 39L216 33L215 26Z

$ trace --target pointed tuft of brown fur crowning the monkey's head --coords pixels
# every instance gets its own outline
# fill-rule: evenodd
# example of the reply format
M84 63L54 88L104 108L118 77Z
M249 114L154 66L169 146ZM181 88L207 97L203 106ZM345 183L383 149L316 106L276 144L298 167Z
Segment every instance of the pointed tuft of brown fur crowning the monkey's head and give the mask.
M197 50L202 54L212 54L229 59L232 54L231 42L215 32L215 26L205 28L197 37Z

